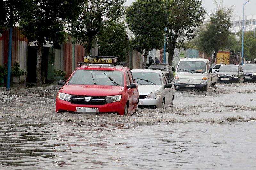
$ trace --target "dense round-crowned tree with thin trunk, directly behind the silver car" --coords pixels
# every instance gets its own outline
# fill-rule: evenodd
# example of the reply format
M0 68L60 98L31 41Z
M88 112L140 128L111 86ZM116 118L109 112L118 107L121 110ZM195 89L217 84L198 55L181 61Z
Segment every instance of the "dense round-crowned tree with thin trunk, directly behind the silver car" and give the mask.
M145 68L148 51L162 48L164 45L164 27L168 20L164 0L137 0L127 8L126 22L134 33L132 47L143 53Z

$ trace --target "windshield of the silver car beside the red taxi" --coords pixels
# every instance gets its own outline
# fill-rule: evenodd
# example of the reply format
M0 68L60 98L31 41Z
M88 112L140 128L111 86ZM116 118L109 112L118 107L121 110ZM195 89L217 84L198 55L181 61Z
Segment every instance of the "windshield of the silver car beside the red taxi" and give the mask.
M139 85L162 85L159 73L132 72L132 75Z

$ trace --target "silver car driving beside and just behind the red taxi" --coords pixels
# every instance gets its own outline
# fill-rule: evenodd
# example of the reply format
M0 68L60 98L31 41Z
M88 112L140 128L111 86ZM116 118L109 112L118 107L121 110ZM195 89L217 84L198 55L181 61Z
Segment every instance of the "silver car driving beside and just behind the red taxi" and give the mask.
M169 78L161 70L132 69L139 89L139 107L164 108L173 105L174 94Z

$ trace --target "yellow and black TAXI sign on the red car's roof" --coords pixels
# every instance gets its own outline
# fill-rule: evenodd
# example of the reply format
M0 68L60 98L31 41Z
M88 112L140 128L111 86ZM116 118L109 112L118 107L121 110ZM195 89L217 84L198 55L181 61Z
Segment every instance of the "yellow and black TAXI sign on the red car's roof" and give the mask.
M95 64L114 64L117 62L117 57L113 56L87 56L84 57L84 63Z

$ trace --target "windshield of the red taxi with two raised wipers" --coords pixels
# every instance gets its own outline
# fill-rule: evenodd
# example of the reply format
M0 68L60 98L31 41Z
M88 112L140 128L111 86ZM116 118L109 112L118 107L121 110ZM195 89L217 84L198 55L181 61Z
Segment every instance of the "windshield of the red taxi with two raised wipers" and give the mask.
M124 86L123 71L76 70L68 84Z

